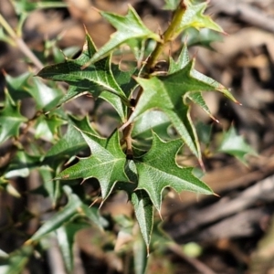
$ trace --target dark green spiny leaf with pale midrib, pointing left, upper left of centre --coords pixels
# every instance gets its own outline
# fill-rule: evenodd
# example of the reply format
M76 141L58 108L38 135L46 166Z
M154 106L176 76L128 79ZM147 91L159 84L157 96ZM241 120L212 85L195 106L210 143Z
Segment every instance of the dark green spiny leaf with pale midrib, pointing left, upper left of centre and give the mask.
M128 104L128 100L113 77L111 57L100 59L95 64L90 64L87 68L82 69L82 66L96 54L96 51L97 49L87 33L86 43L79 58L66 58L62 63L47 66L40 70L37 76L45 79L65 81L69 84L68 93L59 101L59 104L85 92L89 92L93 97L97 98L101 91L107 90L111 93L111 95L108 95L107 100L119 113L121 121L124 121L125 107L122 101Z

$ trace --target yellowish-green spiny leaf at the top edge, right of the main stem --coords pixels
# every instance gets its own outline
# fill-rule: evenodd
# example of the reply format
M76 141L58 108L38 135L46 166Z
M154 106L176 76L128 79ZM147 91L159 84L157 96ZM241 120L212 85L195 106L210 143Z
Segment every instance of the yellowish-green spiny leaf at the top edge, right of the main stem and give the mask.
M210 16L205 16L207 2L195 4L192 0L184 0L185 12L180 25L176 28L175 33L179 34L186 28L194 27L196 29L210 28L219 32L224 32L221 26L218 26Z

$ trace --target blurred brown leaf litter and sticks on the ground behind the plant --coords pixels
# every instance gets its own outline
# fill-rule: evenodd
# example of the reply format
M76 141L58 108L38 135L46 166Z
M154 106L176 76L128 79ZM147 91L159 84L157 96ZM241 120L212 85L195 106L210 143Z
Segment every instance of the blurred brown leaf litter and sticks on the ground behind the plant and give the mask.
M162 0L67 0L63 3L68 7L35 10L23 27L26 45L39 58L47 58L51 63L55 62L53 51L58 48L64 51L70 48L77 55L85 39L84 26L97 47L108 41L115 30L101 18L98 9L124 15L130 4L154 32L163 31L172 16L170 11L162 9ZM10 1L1 0L0 14L16 27L18 17ZM186 41L191 58L196 58L196 69L229 88L242 104L229 102L215 92L206 93L205 101L219 123L199 108L192 109L196 121L212 128L210 150L214 150L219 133L233 125L258 155L248 157L248 164L243 164L227 154L204 152L204 180L220 197L173 192L166 195L163 229L183 248L159 249L154 254L152 250L148 273L271 274L274 273L274 1L211 0L206 14L226 34L203 30L194 38L195 30L189 31L167 48L163 59L176 56ZM29 69L39 70L26 61L19 47L5 41L0 41L0 68L1 100L5 73L16 77ZM80 113L89 113L92 103L87 100L81 103ZM23 107L27 113L29 104ZM8 151L2 147L0 153L2 161ZM19 235L5 232L9 217L18 219L26 208L39 215L47 208L43 197L27 194L39 184L35 176L27 182L23 178L15 179L16 189L26 194L21 198L0 193L0 248L6 252L22 244ZM102 208L103 213L112 215L129 211L126 197L121 194L111 197ZM37 226L34 221L22 229L31 233ZM103 252L95 243L94 238L101 237L98 235L100 232L90 228L77 236L79 264L75 273L126 273L118 256ZM54 273L48 264L58 264L58 248L50 250L48 261L33 262L38 265L38 272L26 269L24 274ZM65 272L60 268L55 273Z

